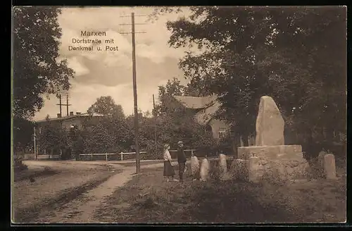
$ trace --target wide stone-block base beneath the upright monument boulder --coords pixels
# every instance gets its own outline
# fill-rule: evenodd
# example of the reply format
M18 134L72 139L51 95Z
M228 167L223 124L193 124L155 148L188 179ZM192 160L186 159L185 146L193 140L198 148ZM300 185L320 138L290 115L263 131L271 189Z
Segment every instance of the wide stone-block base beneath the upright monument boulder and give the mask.
M246 174L241 174L244 180L287 182L308 175L309 164L303 158L301 145L241 146L237 150L239 159L233 165L246 166Z

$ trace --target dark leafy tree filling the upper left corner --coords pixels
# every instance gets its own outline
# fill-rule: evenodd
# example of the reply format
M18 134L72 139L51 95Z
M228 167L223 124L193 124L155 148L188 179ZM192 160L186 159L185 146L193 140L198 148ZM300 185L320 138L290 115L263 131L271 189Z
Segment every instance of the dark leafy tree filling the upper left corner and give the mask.
M13 114L30 118L44 103L44 94L70 88L74 71L58 61L61 28L59 8L13 10Z

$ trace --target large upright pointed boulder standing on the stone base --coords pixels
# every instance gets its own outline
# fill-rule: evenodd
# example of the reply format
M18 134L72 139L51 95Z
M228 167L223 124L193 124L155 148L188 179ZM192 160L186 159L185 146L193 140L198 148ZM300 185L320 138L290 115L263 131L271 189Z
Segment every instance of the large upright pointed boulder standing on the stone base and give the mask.
M260 98L256 120L256 146L284 145L284 119L270 96Z

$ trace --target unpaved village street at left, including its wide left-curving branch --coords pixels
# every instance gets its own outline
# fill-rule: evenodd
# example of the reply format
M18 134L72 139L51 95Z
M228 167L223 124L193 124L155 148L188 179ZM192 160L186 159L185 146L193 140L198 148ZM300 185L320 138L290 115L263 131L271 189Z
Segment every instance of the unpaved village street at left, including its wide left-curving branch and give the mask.
M117 161L116 161L117 162ZM35 182L19 180L14 184L13 203L22 207L22 211L35 211L35 216L27 215L19 218L15 213L15 222L26 223L95 223L96 208L103 206L103 199L110 196L115 189L121 187L135 175L135 166L131 161L118 161L118 163L106 163L103 161L25 161L29 170L39 172L41 168L56 171L52 175L38 175ZM150 161L149 161L150 162ZM141 163L142 172L146 168L157 168L163 163L148 161ZM130 166L131 165L131 166ZM96 184L96 182L99 182ZM82 185L93 185L82 194L79 193ZM83 189L84 190L84 189ZM70 191L76 191L77 196L65 196ZM64 193L63 193L64 192ZM64 199L53 201L58 195L63 194ZM70 192L72 194L72 192ZM75 192L73 192L75 194ZM50 197L51 202L46 203ZM62 197L62 196L61 196ZM37 206L37 204L42 204ZM22 212L23 213L23 212Z

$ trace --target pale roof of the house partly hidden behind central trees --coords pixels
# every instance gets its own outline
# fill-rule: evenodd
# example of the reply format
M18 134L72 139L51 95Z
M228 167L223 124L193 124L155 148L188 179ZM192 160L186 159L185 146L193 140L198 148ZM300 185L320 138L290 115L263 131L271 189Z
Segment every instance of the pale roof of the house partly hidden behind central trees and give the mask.
M203 97L194 97L194 96L173 96L177 101L179 101L186 108L192 109L202 109L208 108L215 103L217 96L203 96Z

